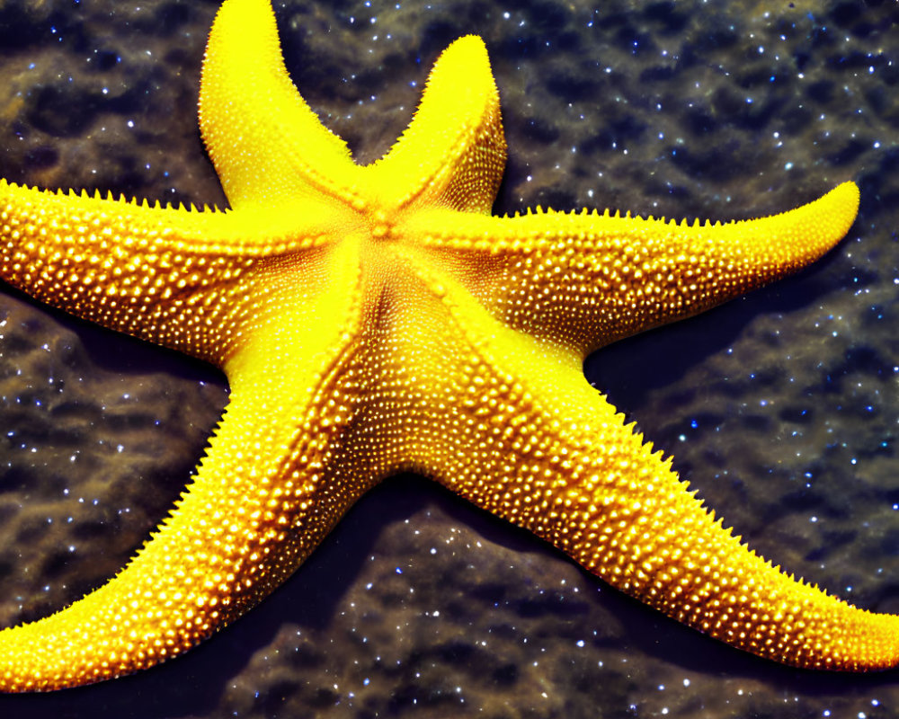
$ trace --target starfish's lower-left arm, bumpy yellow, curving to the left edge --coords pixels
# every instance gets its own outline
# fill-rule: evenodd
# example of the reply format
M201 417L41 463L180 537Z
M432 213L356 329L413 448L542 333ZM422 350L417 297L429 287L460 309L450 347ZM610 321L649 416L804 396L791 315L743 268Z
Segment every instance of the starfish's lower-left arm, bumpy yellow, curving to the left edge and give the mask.
M290 322L229 361L230 402L194 482L125 569L0 632L0 691L89 684L186 651L277 588L368 489L333 461L360 398L359 295L317 304L328 329Z

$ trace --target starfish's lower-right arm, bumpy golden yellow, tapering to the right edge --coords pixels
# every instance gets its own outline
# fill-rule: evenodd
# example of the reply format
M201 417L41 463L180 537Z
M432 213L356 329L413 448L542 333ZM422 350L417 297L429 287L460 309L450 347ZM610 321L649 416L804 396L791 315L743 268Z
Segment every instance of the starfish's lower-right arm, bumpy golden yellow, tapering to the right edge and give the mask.
M851 607L763 560L578 368L533 340L489 336L444 368L455 379L431 403L453 398L458 409L446 424L421 422L417 467L727 644L809 669L899 664L899 617Z

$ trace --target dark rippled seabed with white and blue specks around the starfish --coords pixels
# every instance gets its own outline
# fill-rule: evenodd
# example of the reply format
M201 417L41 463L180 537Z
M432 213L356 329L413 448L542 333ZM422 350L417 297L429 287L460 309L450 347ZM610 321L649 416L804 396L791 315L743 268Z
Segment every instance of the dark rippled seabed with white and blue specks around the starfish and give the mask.
M89 6L88 6L89 5ZM362 161L432 61L481 34L536 204L753 217L854 179L859 221L796 278L597 353L588 378L750 544L899 612L891 2L279 4L307 101ZM214 2L0 7L0 175L224 199L195 102ZM0 622L111 577L187 484L216 372L0 299ZM415 477L360 502L271 599L178 661L4 716L886 716L895 672L823 676L712 642Z

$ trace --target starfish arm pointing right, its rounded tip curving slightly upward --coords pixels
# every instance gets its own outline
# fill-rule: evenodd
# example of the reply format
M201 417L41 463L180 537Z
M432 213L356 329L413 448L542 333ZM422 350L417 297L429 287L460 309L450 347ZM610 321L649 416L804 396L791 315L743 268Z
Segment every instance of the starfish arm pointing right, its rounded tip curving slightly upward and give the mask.
M454 251L455 271L503 322L583 358L814 262L849 231L858 207L858 187L845 182L783 214L727 224L538 210L422 213L405 231Z

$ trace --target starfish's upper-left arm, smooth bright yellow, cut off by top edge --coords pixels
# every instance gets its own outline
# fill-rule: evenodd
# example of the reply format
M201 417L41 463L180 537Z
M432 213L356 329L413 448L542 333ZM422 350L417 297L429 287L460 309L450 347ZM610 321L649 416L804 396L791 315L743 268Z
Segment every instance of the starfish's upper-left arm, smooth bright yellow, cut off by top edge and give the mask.
M200 132L233 208L316 192L356 199L359 168L290 80L268 0L219 8L203 61Z

